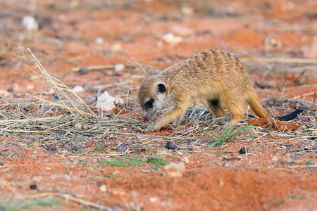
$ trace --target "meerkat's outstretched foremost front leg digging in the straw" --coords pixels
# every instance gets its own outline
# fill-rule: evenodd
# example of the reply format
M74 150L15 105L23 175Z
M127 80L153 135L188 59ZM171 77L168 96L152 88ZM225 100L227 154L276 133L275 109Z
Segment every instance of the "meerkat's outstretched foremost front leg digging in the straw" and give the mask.
M177 121L179 121L179 118L182 118L182 114L185 113L187 107L181 107L175 105L172 109L168 110L168 112L164 113L159 117L156 122L151 124L147 129L145 129L146 132L154 132L156 130L161 129L161 127L164 127L166 124L168 124L170 121L174 120L175 118L178 118Z

